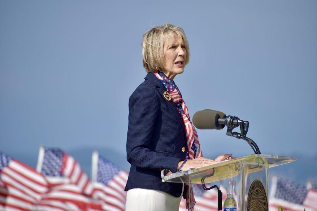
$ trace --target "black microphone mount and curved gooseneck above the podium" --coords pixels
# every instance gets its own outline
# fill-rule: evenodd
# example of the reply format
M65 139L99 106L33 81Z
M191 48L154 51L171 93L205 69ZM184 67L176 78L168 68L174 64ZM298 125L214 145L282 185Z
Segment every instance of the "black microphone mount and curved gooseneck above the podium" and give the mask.
M218 124L227 126L226 135L235 137L237 139L246 140L248 142L248 144L251 146L251 148L253 149L254 153L261 154L260 149L256 145L256 143L252 139L246 137L248 130L249 130L249 122L248 121L243 121L243 120L240 120L239 117L229 115L225 118L219 118ZM232 130L234 128L239 127L239 126L240 126L241 133L232 132Z

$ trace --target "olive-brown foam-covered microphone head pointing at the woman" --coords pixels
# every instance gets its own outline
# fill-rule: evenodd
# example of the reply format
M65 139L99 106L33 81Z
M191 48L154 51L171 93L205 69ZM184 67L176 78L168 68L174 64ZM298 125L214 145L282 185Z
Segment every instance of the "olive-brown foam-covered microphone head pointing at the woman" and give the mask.
M211 109L197 111L193 116L193 124L198 129L221 130L225 126L227 116L221 112ZM220 120L220 121L219 121Z

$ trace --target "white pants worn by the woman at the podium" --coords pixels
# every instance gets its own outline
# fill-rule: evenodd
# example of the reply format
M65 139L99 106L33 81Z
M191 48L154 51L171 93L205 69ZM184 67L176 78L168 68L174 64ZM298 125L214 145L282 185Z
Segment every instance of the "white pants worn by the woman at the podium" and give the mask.
M126 211L178 211L183 191L175 197L160 190L130 189L126 195Z

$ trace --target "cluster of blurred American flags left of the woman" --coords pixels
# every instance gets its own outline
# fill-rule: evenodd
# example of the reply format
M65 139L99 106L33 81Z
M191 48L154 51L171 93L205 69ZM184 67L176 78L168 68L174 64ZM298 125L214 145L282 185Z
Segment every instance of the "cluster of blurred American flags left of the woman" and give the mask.
M128 173L92 156L92 180L55 148L40 148L36 170L0 152L0 210L125 210Z

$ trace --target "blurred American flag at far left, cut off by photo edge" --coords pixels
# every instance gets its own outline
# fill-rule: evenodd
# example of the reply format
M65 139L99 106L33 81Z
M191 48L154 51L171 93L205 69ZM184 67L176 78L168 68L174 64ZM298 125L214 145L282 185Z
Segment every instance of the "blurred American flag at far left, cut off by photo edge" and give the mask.
M48 192L45 177L35 169L0 152L0 195L2 210L35 210Z

